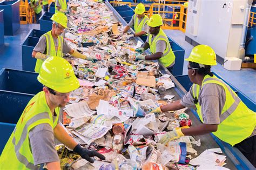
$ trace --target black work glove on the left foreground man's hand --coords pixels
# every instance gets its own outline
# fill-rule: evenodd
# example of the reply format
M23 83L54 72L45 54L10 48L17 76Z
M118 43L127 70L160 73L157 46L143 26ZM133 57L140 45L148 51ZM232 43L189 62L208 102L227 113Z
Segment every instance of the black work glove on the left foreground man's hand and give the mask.
M78 153L83 159L86 159L90 163L94 160L91 157L98 157L99 159L105 160L104 155L98 153L97 151L91 151L89 149L82 148L79 144L73 149L74 152Z

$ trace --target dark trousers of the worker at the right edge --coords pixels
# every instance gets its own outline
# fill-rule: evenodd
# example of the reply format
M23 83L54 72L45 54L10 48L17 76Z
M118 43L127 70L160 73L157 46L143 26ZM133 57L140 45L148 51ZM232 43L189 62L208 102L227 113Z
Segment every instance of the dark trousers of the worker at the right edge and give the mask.
M256 135L235 144L234 147L238 148L242 154L256 167Z

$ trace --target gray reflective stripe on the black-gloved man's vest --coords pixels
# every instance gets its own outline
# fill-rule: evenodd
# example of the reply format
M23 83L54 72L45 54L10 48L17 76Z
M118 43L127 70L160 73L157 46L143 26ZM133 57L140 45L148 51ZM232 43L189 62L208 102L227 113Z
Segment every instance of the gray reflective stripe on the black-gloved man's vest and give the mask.
M28 136L28 127L30 125L32 125L33 123L35 123L36 121L42 120L42 119L49 119L49 114L47 112L36 114L34 117L29 119L29 121L26 123L25 127L23 128L21 138L19 139L18 143L16 144L15 135L14 135L14 138L12 139L12 144L14 144L14 149L15 149L17 159L19 160L19 162L24 164L29 169L36 169L36 168L38 168L38 166L35 166L35 165L33 165L32 162L29 162L28 159L26 159L26 157L24 157L24 155L22 155L19 152L19 150L21 149L23 142L26 140L26 138ZM14 134L15 134L15 132L16 132L16 128L15 128Z

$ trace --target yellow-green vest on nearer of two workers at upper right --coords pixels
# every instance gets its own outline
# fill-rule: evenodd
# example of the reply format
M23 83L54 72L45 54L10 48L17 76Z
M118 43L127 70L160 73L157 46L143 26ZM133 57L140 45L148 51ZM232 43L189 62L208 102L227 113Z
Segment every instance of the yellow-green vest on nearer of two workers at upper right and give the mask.
M156 53L156 44L158 40L164 40L166 42L166 49L164 51L164 55L159 59L160 62L165 66L168 67L170 66L174 60L175 60L175 55L172 51L172 47L169 43L169 40L167 38L167 36L165 35L164 31L162 29L160 29L158 35L156 37L154 37L153 42L151 42L152 39L152 34L150 34L149 36L149 45L150 45L150 51L151 53Z

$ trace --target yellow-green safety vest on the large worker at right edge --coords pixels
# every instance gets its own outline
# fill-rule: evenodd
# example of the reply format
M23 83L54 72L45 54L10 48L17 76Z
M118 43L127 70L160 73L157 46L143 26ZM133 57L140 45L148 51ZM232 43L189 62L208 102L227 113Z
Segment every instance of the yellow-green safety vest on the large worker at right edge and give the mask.
M220 124L218 125L218 130L213 132L213 134L232 146L250 137L256 125L256 113L250 110L241 101L230 86L226 85L216 76L211 77L206 75L204 77L202 87L208 83L214 83L222 86L226 94L225 104L220 114ZM201 106L198 102L200 89L201 87L199 85L193 84L192 91L194 101L197 101L197 113L201 122L204 123Z

